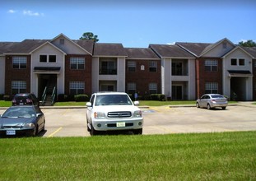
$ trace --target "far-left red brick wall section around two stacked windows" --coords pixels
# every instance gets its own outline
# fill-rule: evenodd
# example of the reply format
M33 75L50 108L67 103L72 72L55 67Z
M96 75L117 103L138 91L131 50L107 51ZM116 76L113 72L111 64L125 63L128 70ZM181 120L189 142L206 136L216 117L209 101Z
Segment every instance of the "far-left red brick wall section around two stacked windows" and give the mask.
M12 81L26 81L26 92L30 92L30 55L15 55L18 57L26 57L26 68L17 69L12 67L13 55L7 55L6 71L5 71L5 95L12 95Z

